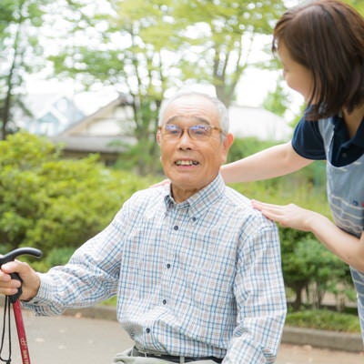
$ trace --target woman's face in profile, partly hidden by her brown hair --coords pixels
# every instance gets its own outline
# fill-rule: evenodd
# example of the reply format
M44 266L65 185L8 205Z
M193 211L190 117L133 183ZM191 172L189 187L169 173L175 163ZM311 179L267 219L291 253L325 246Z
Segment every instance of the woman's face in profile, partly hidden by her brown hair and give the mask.
M283 66L283 77L292 90L301 94L308 102L313 91L313 74L305 66L295 61L283 42L278 44L278 56ZM312 100L313 101L313 100Z

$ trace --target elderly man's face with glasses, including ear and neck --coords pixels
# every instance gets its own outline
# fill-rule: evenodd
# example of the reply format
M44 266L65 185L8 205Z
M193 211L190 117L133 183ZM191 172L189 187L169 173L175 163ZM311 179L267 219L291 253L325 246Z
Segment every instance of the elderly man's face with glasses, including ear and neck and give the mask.
M221 135L217 106L204 96L191 95L167 106L157 141L173 196L181 202L217 177L233 137Z

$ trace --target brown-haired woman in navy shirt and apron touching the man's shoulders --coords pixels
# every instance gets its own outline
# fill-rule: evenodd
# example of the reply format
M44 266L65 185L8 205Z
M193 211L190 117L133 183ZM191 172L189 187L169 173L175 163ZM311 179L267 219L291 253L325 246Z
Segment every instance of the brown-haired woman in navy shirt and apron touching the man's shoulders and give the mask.
M228 164L221 173L227 183L246 182L327 160L335 223L293 204L253 205L282 226L312 232L349 264L364 341L364 19L338 0L295 6L278 20L272 50L307 110L290 142Z

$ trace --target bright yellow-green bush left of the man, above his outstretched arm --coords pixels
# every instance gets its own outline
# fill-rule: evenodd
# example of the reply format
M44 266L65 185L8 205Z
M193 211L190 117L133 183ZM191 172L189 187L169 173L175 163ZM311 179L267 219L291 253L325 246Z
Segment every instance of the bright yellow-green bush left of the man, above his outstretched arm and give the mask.
M45 138L27 133L0 142L1 252L40 248L48 268L54 249L76 249L111 221L147 178L110 170L97 156L59 159Z

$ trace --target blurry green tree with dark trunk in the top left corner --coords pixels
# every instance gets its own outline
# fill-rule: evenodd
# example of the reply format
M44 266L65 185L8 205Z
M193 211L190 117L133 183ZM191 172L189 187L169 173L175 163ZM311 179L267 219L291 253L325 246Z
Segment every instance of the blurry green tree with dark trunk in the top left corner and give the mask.
M81 0L79 0L81 1ZM2 0L0 2L0 139L16 130L14 118L26 106L26 77L47 68L46 42L54 33L56 19L72 15L80 5L77 1Z

